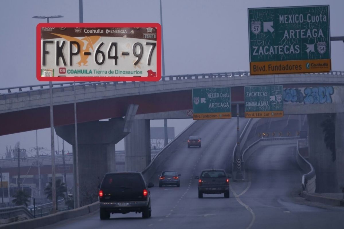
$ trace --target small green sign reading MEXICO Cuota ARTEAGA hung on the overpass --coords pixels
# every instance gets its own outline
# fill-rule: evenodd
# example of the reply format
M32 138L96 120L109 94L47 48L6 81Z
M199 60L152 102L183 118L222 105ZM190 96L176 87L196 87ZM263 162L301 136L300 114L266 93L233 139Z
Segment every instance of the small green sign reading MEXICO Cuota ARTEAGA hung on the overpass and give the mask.
M193 119L231 118L230 88L192 89Z

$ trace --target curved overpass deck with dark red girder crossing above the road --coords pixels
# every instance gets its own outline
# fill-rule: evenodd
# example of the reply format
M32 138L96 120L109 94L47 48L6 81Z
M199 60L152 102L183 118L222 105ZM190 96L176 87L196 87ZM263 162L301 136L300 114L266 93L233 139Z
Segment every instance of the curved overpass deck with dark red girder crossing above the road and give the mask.
M123 117L129 104L139 105L141 118L165 118L164 112L182 111L176 118L187 118L192 109L192 88L232 87L232 104L244 101L244 86L283 85L284 88L344 85L344 71L329 73L250 76L249 72L203 73L194 75L164 76L158 82L83 82L76 84L78 123L106 118ZM74 88L71 83L53 85L54 125L74 123ZM50 126L49 84L28 85L0 89L0 136ZM342 94L338 95L341 103ZM294 104L292 104L294 105ZM344 112L333 102L333 112ZM314 107L314 106L313 106ZM92 108L92 109L90 109ZM285 114L299 114L301 107L285 106ZM307 112L318 108L309 109ZM337 111L338 110L338 111ZM306 114L307 112L303 112ZM63 115L61 115L63 114ZM25 118L25 123L18 119Z

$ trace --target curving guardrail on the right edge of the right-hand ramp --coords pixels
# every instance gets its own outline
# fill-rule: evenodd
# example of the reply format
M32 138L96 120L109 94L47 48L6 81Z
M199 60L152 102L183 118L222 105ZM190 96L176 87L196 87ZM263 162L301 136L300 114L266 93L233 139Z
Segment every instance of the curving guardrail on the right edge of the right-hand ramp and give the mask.
M307 193L314 193L315 192L315 170L312 164L306 160L299 152L300 148L300 140L297 140L297 162L299 166L307 171L310 170L308 173L302 175L301 186L302 190Z

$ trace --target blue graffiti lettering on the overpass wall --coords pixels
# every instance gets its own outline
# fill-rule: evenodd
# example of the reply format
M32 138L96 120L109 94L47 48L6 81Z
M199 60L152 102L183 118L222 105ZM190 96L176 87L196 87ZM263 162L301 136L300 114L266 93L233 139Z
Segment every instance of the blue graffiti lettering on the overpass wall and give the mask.
M334 89L332 86L328 87L313 87L305 88L303 93L298 88L286 88L283 93L283 100L292 103L332 103L331 95Z

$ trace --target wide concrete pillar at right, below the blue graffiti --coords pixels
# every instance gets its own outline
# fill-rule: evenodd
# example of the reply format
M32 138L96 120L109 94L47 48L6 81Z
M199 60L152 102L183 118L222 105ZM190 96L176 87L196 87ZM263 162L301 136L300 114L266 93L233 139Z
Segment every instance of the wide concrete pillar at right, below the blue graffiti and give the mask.
M338 191L336 163L332 153L326 148L321 123L328 114L308 114L309 161L315 169L315 192L331 193Z

